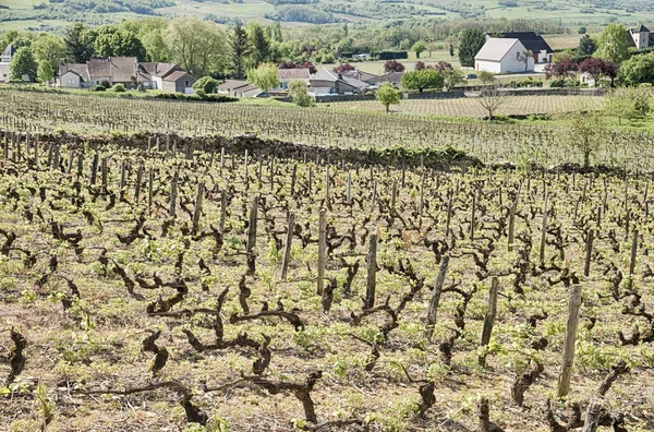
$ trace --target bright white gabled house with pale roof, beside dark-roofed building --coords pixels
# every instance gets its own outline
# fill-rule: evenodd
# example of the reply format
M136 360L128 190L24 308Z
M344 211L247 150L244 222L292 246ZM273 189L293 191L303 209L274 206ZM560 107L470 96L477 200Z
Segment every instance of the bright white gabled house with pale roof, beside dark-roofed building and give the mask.
M474 57L474 69L492 73L519 73L534 71L534 57L524 57L526 47L517 38L486 39Z

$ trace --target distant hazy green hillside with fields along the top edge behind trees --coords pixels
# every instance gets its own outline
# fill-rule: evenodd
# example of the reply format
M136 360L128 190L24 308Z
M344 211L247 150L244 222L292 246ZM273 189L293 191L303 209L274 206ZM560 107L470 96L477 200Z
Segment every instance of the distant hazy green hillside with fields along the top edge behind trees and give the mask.
M88 4L92 4L89 9ZM281 21L287 25L383 22L414 17L507 17L558 20L569 24L654 22L651 1L617 0L0 0L0 32L52 29L66 22L88 24L122 19L196 14L220 24L237 20Z

